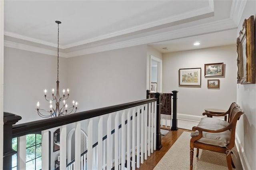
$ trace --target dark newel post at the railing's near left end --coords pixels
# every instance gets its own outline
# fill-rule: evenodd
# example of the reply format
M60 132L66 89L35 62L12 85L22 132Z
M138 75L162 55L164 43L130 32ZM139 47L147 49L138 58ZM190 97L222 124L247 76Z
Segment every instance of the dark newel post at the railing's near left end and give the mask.
M17 153L12 149L12 125L16 124L20 119L21 117L18 115L4 112L4 170L12 169L12 155Z

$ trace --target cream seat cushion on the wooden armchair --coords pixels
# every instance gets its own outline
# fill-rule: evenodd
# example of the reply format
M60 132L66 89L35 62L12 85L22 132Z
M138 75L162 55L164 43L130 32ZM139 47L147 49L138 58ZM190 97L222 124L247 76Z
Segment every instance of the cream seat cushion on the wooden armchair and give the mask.
M218 119L218 118L211 118L211 117L203 117L197 127L205 128L208 130L218 130L221 128L224 128L228 126L229 123ZM215 146L221 146L225 147L230 142L230 130L226 130L224 132L219 133L210 133L210 132L204 132L202 138L198 139L198 142L204 143L204 144L212 144ZM199 132L198 130L191 133L190 136L198 136Z

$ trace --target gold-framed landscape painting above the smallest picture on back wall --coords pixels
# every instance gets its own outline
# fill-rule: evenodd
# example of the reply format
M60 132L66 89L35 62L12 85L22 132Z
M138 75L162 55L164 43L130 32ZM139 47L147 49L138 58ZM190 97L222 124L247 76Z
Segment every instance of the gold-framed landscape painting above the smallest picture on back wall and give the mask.
M223 63L204 64L204 76L223 76Z

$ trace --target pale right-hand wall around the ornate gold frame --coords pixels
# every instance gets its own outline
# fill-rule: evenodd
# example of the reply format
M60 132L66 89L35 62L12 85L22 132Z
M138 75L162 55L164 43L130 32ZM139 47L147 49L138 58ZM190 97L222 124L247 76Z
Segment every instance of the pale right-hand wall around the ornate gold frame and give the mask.
M246 2L244 12L237 29L237 36L242 30L244 19L254 15L256 17L256 1ZM242 150L242 164L245 169L256 169L256 84L239 85L237 89L237 103L244 110L244 115L237 124L236 132L240 139L240 149Z

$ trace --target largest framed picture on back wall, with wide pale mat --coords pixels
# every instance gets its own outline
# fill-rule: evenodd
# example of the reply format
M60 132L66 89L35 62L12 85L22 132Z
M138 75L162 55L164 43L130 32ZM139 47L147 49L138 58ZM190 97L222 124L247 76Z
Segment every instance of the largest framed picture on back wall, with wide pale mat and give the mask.
M179 69L179 85L201 85L201 68Z

